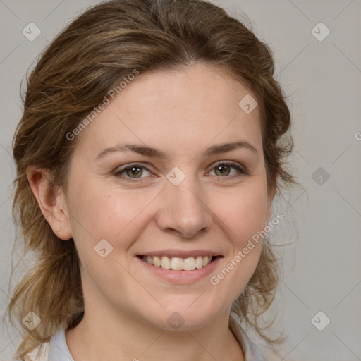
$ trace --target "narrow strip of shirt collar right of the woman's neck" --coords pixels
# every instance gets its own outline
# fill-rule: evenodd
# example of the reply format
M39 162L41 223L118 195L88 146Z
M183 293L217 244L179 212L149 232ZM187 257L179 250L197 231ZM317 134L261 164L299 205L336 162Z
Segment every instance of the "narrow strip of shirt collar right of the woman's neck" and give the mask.
M237 314L234 312L231 312L229 328L242 347L243 353L245 354L245 361L267 361L255 343L250 340L246 331L240 325Z

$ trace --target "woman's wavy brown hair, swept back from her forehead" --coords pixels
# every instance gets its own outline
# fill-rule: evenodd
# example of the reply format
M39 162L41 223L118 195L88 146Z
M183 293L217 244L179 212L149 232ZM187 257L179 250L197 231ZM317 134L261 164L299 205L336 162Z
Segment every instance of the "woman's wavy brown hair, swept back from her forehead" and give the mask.
M84 309L73 240L63 242L51 230L30 188L27 168L36 164L49 169L54 176L50 185L66 190L68 160L79 140L66 135L109 90L134 69L140 73L176 69L192 61L223 68L255 94L267 186L279 191L296 183L284 166L293 140L290 135L285 138L290 111L273 78L273 56L243 23L201 0L118 0L89 8L56 36L27 77L23 117L13 139L17 167L13 218L22 230L23 255L32 250L37 257L8 305L11 322L14 317L20 321L24 334L18 357L49 341L59 326L74 327ZM281 340L268 338L262 331L267 327L259 326L257 319L274 300L277 270L272 247L264 239L255 273L233 304L240 319L269 343ZM21 323L28 312L42 320L32 331Z

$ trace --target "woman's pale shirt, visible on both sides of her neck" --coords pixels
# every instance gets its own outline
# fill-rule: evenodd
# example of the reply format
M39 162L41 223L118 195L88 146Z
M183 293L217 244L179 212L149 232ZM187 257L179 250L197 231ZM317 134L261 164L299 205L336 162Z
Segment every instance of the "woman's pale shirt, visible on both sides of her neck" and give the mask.
M245 330L240 326L238 317L231 313L230 329L242 347L245 361L267 361L255 343L250 341ZM74 361L68 345L66 344L65 329L59 329L51 340L42 343L29 353L28 361Z

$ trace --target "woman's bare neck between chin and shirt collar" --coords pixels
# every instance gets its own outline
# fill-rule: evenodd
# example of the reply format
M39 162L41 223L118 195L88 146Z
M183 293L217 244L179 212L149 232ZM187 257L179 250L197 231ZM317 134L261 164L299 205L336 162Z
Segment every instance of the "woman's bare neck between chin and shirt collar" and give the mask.
M158 361L161 355L173 361L244 361L228 317L224 312L202 329L169 331L130 314L98 312L90 305L82 321L66 331L66 343L74 360Z

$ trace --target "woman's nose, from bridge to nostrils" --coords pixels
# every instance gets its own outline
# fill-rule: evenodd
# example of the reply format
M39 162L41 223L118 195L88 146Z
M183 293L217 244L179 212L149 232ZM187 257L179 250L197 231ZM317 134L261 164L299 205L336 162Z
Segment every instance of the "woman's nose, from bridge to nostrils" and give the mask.
M200 231L207 231L213 216L204 198L201 185L190 176L178 185L167 182L156 216L159 228L183 238L195 238Z

